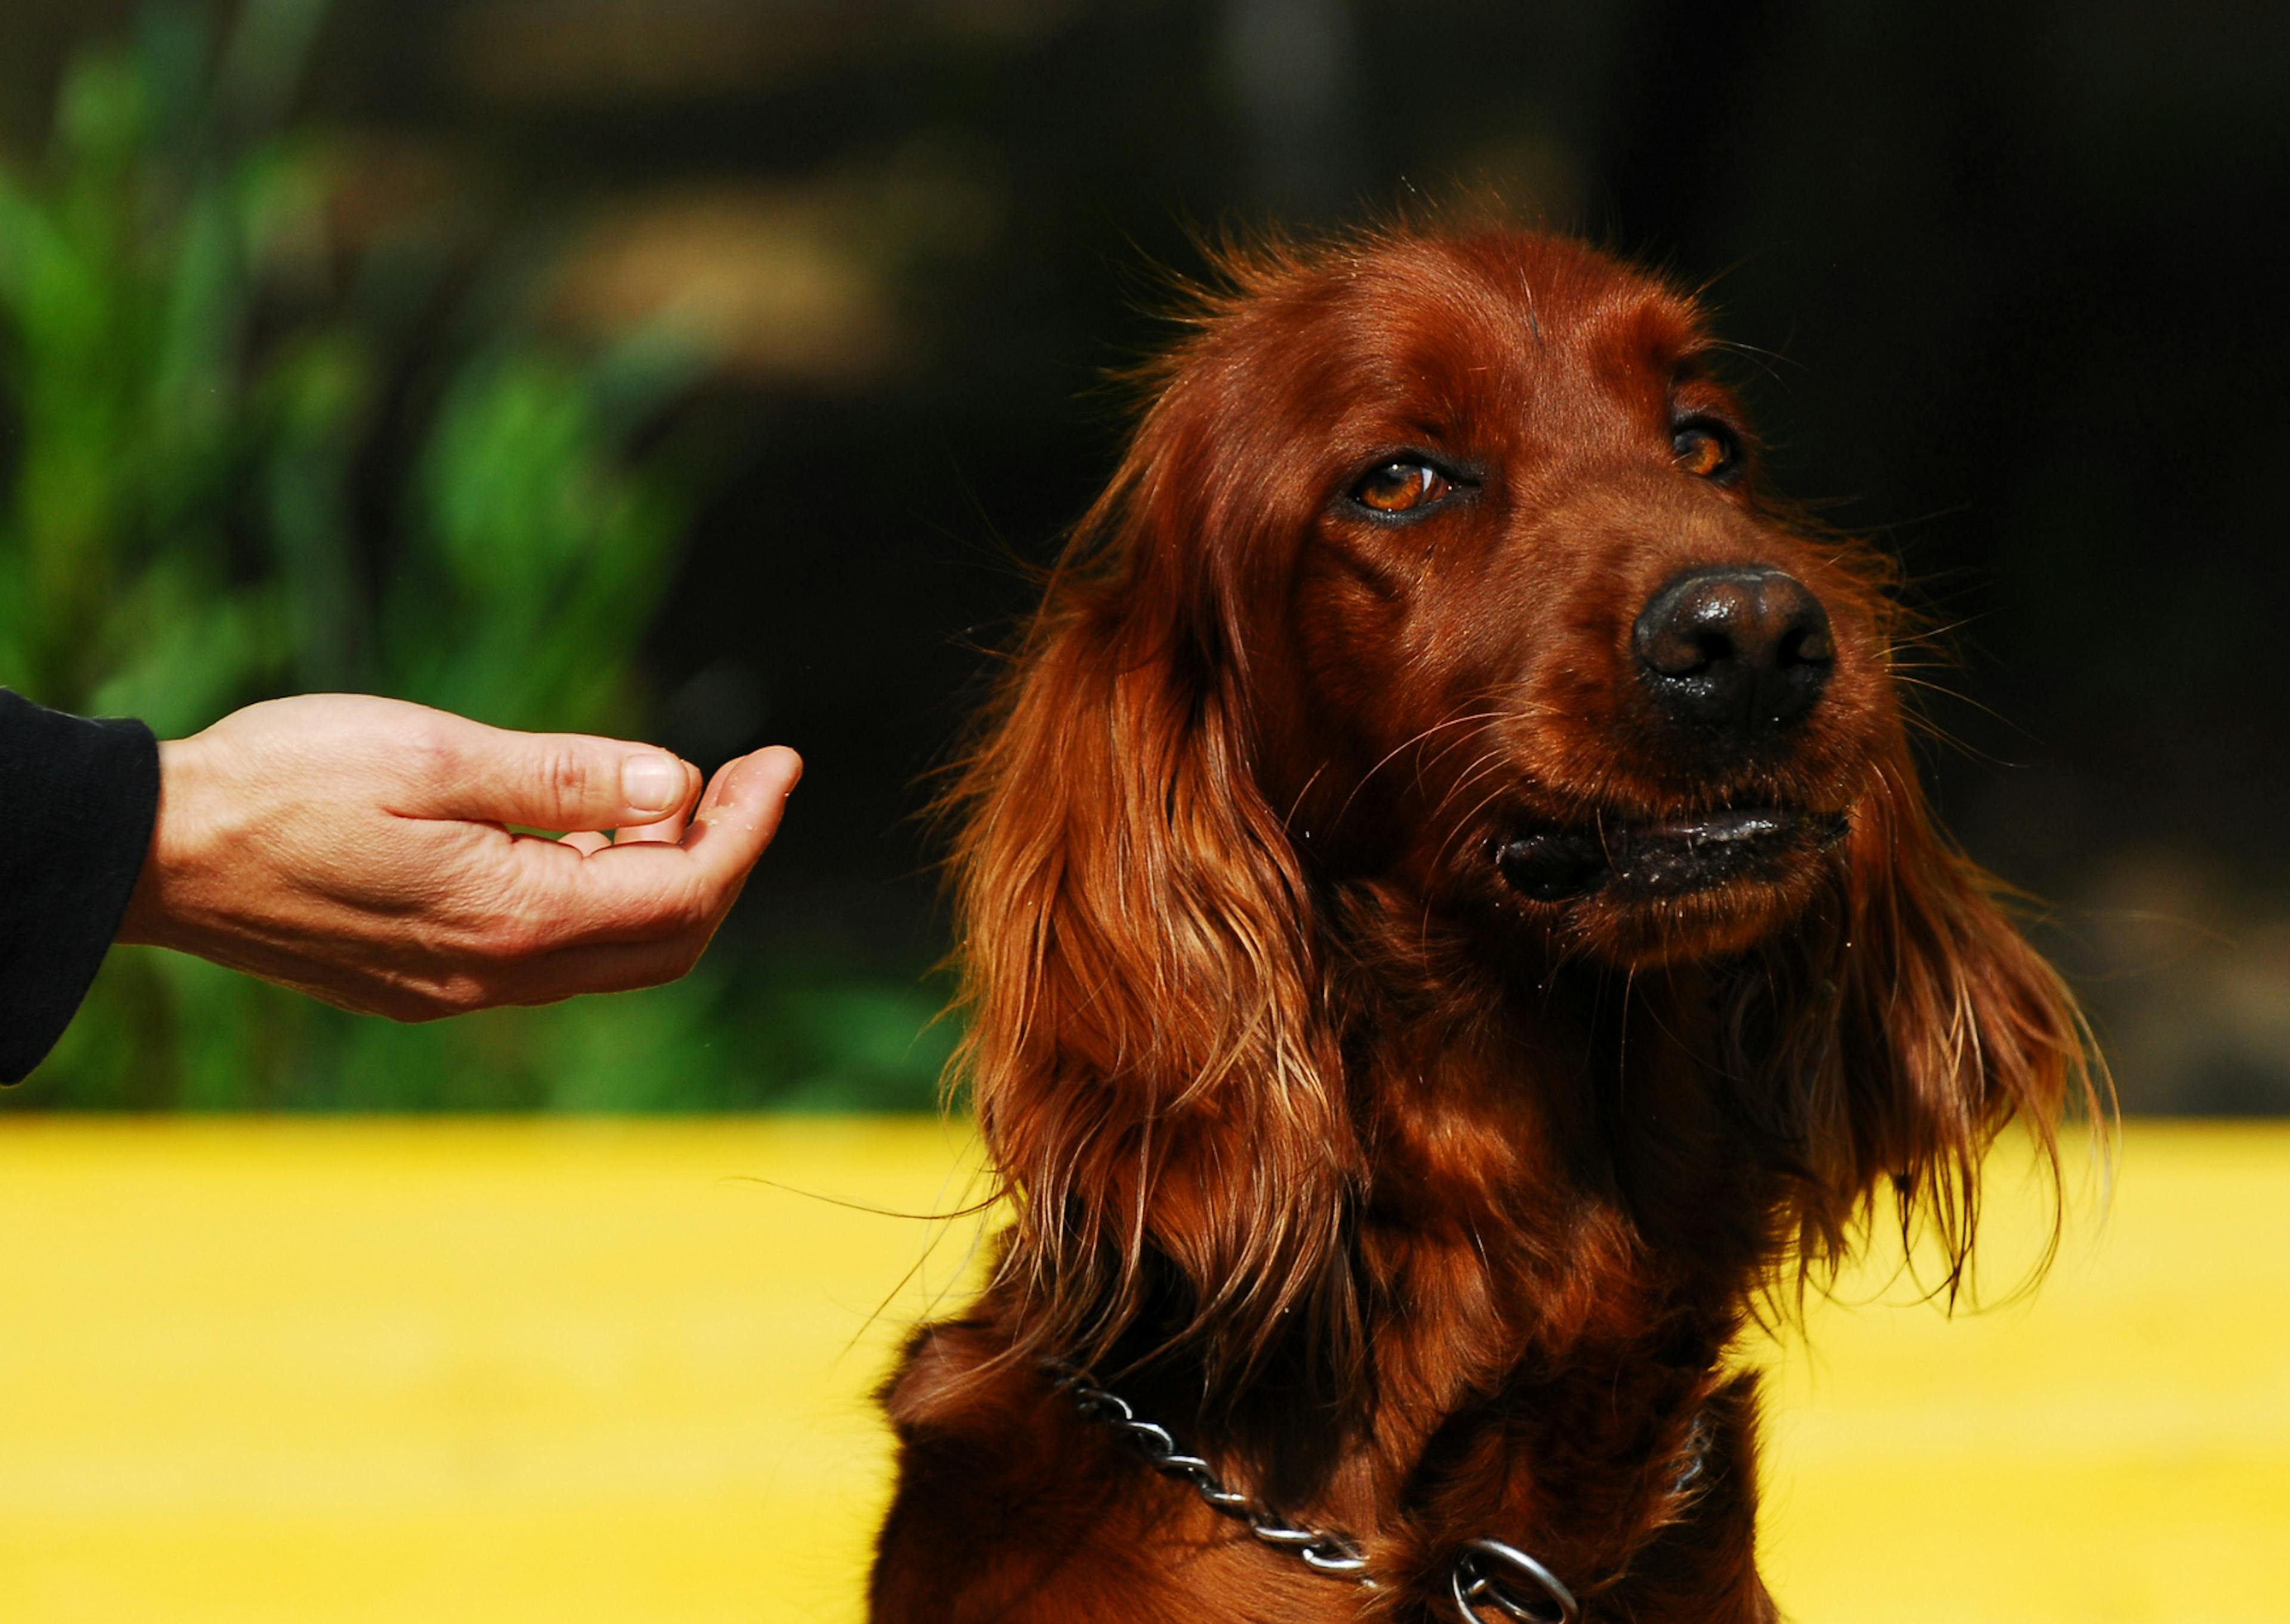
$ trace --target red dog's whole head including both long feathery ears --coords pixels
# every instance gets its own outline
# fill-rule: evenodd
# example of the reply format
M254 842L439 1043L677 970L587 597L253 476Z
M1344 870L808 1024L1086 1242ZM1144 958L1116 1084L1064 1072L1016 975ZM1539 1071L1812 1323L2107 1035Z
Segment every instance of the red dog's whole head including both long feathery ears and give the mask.
M1344 886L1553 964L1747 964L1711 1061L1754 1067L1805 1241L1885 1175L1967 1239L2072 1006L1924 813L1885 561L1761 490L1713 353L1514 231L1237 257L1205 300L962 795L966 1065L1049 1296L1156 1251L1209 1322L1312 1299L1358 1173Z

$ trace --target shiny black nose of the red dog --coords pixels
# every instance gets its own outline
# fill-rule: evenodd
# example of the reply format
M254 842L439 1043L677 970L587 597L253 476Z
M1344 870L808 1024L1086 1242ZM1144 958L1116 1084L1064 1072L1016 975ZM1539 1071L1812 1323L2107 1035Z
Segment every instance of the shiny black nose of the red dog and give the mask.
M1630 646L1672 719L1736 744L1798 722L1837 664L1821 600L1754 563L1679 575L1640 612Z

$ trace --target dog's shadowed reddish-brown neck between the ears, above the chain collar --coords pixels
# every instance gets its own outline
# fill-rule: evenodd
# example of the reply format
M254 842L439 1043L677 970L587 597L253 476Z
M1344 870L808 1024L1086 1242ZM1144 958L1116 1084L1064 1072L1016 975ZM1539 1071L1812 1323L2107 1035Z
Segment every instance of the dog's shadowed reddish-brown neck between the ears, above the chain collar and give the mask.
M1376 898L1347 923L1381 923ZM1713 1061L1711 973L1559 967L1408 925L1353 935L1365 951L1335 971L1365 983L1342 999L1363 1012L1344 1049L1365 1361L1211 1420L1266 1493L1353 1526L1427 1457L1472 1448L1472 1416L1578 1461L1674 1448L1775 1251L1775 1180Z

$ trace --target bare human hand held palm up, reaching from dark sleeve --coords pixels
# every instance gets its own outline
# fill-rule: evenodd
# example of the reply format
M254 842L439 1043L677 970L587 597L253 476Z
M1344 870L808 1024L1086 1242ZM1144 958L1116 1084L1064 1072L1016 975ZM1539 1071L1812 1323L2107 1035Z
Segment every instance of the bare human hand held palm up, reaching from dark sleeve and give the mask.
M774 747L701 793L650 744L277 699L160 744L119 939L401 1022L650 987L698 962L802 772Z

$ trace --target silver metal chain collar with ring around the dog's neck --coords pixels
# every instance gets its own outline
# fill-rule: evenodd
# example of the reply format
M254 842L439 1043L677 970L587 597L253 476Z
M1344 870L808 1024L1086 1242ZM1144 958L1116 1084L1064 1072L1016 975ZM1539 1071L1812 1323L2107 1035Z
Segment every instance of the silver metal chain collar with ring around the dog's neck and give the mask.
M1376 1580L1367 1576L1367 1551L1351 1535L1340 1535L1333 1528L1301 1528L1230 1487L1209 1461L1179 1450L1168 1427L1138 1420L1129 1400L1097 1386L1090 1372L1060 1363L1047 1365L1047 1372L1051 1383L1074 1400L1074 1409L1083 1418L1104 1422L1124 1436L1156 1473L1193 1484L1209 1509L1239 1521L1250 1535L1278 1551L1294 1551L1314 1574L1349 1578L1376 1590ZM1672 1493L1683 1493L1701 1475L1708 1445L1708 1420L1695 1416L1685 1466L1679 1468ZM1521 1619L1521 1624L1576 1624L1582 1617L1582 1606L1557 1574L1500 1539L1466 1544L1454 1567L1447 1569L1447 1592L1454 1597L1461 1624L1484 1624L1482 1608L1493 1608L1509 1619Z

